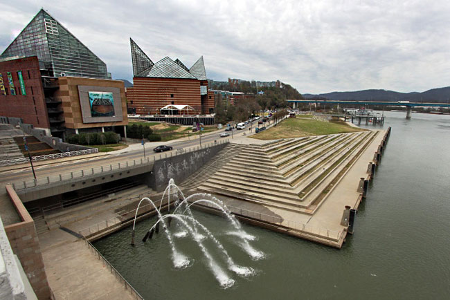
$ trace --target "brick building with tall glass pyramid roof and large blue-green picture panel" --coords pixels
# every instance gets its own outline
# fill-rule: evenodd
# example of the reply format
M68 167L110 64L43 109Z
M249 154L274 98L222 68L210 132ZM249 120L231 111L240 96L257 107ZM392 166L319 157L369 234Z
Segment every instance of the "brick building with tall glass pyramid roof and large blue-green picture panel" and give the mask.
M63 139L128 123L123 81L43 9L0 55L0 99L1 117Z

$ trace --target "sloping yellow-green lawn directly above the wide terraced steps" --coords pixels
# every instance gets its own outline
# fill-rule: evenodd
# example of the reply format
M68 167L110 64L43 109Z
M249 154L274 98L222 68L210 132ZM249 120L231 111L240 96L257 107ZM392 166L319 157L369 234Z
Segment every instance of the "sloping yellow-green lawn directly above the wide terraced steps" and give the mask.
M276 127L262 131L249 138L258 140L277 140L279 138L298 138L309 135L324 135L363 131L364 129L348 126L345 122L321 122L311 118L287 118Z

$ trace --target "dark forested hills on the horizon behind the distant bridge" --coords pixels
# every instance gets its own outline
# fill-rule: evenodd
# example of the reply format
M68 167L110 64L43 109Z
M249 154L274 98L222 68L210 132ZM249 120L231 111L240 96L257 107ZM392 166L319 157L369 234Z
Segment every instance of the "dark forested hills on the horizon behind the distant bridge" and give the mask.
M354 92L332 92L325 94L303 94L306 99L323 98L327 100L373 100L373 101L411 101L411 102L449 102L450 86L433 88L422 93L400 93L386 90L363 90Z

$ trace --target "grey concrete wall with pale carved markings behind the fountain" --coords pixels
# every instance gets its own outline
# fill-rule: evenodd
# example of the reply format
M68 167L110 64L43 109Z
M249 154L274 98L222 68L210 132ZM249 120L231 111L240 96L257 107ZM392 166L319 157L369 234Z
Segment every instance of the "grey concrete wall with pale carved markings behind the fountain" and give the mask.
M213 158L226 144L218 144L206 149L156 160L153 174L150 174L151 176L147 174L147 185L155 191L163 191L167 187L170 178L173 178L175 183L182 182Z

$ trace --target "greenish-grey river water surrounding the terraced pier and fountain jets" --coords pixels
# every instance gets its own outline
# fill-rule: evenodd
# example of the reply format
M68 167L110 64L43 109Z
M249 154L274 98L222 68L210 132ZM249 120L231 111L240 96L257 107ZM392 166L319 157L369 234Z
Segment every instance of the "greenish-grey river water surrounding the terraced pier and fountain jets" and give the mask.
M253 261L226 234L226 219L194 211L234 261L256 271L246 278L226 270L205 241L235 280L224 289L190 238L175 239L191 261L181 270L163 234L142 243L154 219L138 224L136 247L129 228L94 245L145 299L450 299L450 115L384 115L392 133L341 250L243 225L265 254Z

